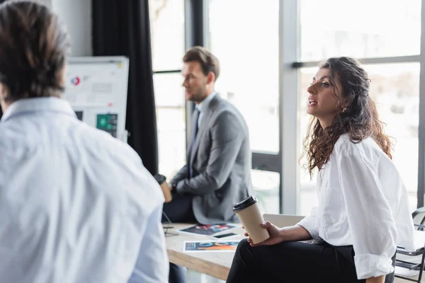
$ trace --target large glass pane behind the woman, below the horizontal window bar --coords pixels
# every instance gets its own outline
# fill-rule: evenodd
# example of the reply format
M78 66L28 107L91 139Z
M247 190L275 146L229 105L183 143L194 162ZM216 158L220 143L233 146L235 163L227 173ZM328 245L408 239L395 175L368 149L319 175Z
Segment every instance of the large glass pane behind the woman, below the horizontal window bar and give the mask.
M385 133L395 138L393 161L409 192L410 211L414 212L418 180L419 63L364 65L364 68L372 81L370 96L376 103L380 120L387 124ZM316 71L317 68L300 70L302 137L310 119L305 114L306 90ZM300 170L300 214L310 212L317 204L315 180L314 176L310 182L305 171Z

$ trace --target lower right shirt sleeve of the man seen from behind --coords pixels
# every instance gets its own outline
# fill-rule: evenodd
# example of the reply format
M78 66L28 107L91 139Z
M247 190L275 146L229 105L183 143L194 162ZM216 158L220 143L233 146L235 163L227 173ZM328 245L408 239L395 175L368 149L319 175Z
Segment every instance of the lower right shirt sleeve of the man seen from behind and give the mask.
M162 205L149 216L139 257L128 283L163 283L169 279L169 259L162 229Z

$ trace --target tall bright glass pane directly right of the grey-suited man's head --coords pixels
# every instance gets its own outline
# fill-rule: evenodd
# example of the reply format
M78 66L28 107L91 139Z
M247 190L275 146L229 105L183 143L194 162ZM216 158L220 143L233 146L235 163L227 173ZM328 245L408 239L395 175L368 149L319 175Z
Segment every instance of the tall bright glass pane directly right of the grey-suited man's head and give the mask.
M220 60L216 90L244 115L251 149L277 153L279 1L208 3L208 43Z

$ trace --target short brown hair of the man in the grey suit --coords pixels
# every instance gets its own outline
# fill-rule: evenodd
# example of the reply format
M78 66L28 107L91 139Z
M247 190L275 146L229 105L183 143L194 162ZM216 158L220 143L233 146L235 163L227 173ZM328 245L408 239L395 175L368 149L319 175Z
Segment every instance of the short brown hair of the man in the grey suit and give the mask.
M205 76L212 71L215 74L215 80L217 80L220 74L220 63L217 57L201 46L191 47L186 51L183 62L199 62Z

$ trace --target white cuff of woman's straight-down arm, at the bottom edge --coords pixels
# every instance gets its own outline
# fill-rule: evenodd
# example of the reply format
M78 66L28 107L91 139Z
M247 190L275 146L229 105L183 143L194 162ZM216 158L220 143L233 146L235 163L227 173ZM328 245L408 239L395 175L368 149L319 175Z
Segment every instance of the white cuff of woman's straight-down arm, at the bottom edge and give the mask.
M394 271L391 258L382 255L355 255L357 279L387 275Z

